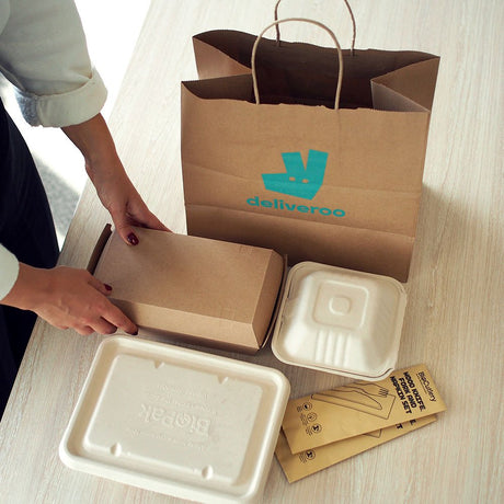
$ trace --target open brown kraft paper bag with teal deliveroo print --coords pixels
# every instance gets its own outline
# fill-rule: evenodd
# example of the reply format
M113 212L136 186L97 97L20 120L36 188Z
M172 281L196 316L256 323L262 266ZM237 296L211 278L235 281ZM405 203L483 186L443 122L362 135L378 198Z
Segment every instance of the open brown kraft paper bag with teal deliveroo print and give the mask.
M405 282L439 58L263 34L198 36L254 72L182 82L188 233Z

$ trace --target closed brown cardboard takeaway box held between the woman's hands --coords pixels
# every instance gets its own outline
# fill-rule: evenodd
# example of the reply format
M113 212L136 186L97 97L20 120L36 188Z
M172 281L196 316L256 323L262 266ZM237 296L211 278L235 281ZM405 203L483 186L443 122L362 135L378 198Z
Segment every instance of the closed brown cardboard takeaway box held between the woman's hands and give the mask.
M284 278L279 254L164 231L135 232L138 245L126 245L114 232L101 254L96 245L91 263L100 254L94 275L113 287L111 300L137 325L245 353L263 345Z

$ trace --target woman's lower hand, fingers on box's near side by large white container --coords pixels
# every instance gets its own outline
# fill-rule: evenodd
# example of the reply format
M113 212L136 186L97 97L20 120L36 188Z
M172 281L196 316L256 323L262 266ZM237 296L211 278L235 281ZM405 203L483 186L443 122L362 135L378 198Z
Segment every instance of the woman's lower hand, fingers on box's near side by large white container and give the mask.
M32 310L51 325L82 335L112 334L117 329L136 334L135 323L106 298L111 290L85 270L43 270L20 263L18 280L2 305Z

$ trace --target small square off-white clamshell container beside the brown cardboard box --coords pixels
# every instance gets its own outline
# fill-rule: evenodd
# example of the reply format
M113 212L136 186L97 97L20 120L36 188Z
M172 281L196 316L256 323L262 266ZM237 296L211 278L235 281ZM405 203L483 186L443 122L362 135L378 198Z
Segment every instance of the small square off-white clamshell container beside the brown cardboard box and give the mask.
M405 305L394 278L298 263L287 276L273 353L286 364L381 380L396 367Z

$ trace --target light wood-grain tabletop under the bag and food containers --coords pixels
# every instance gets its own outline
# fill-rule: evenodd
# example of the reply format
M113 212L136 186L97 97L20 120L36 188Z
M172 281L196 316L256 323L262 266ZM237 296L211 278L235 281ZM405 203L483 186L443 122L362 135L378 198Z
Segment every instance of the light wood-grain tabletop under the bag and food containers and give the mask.
M137 187L175 231L185 229L180 81L196 78L191 36L225 27L259 33L271 22L274 4L152 1L111 128ZM274 460L263 502L502 502L503 4L352 4L358 48L416 49L442 58L398 367L425 363L448 411L437 423L294 484ZM322 21L343 46L350 45L351 23L341 1L284 0L279 16L289 15ZM329 45L312 26L286 25L283 34ZM60 262L85 266L106 221L88 186ZM59 440L101 341L37 322L0 426L0 502L179 502L70 470L58 458ZM233 356L283 370L293 397L348 381L284 366L270 350L256 357Z

